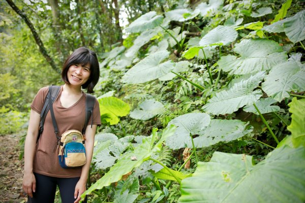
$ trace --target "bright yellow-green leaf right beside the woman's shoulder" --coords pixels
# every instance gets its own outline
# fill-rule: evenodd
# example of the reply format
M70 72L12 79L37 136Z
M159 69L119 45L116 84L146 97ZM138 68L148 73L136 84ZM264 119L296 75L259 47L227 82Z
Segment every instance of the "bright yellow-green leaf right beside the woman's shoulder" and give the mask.
M102 122L115 125L119 121L119 117L129 114L130 108L127 103L115 97L104 97L98 99L100 103Z

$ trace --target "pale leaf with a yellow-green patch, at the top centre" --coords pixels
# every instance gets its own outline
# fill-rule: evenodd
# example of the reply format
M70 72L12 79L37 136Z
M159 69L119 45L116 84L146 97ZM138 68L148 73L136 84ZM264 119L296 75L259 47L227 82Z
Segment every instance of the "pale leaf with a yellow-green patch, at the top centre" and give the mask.
M192 11L189 9L175 9L165 13L165 16L170 20L184 22L195 18L199 15L199 11Z

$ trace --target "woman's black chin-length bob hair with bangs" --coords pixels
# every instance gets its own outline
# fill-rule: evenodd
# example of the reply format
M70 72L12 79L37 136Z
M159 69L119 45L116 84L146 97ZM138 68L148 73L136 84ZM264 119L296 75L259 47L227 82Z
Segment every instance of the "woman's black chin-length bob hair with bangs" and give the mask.
M67 76L69 67L74 64L86 65L87 63L90 64L90 76L87 82L81 87L87 89L88 93L93 93L93 88L99 81L100 66L97 54L88 48L80 47L67 58L63 66L62 79L65 83L70 84Z

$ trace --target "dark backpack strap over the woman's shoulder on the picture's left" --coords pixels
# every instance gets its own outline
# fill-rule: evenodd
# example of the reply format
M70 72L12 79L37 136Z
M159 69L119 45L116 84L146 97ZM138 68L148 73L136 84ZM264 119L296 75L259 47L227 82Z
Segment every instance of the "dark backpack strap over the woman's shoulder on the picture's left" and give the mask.
M52 104L53 104L54 101L55 101L55 98L58 96L60 86L52 85L51 88L52 88L51 100L52 100ZM43 108L42 108L41 113L40 113L40 126L39 126L39 133L38 133L37 141L39 140L39 138L42 134L44 121L46 119L46 116L47 116L47 113L48 113L49 110L50 110L50 107L49 107L49 93L47 93L47 96L45 97Z

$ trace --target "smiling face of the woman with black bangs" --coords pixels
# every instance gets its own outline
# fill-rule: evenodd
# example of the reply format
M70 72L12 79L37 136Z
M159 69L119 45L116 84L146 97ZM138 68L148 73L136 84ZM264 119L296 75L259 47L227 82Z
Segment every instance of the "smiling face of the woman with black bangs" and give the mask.
M73 64L69 67L67 72L68 81L70 85L81 87L87 82L90 77L90 64L85 65Z

